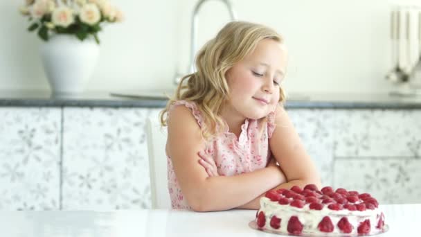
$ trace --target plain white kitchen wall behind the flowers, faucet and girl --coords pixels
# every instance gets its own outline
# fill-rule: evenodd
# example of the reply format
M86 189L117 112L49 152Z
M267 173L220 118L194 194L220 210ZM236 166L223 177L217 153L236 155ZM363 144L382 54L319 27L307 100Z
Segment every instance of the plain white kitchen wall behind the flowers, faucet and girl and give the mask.
M188 69L196 1L114 0L126 19L100 34L100 60L87 90L170 87L174 74ZM287 91L393 89L384 80L391 68L391 0L231 1L239 19L267 24L284 35L290 53ZM42 42L26 31L28 22L17 11L23 2L0 1L0 90L49 89L38 55ZM226 19L222 3L205 3L199 12L199 44L215 35Z

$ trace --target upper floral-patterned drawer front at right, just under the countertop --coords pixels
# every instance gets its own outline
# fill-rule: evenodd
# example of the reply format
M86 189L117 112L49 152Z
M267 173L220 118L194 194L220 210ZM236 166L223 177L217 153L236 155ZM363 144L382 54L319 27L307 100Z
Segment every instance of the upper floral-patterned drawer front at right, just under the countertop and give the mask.
M337 111L335 157L421 157L421 111Z

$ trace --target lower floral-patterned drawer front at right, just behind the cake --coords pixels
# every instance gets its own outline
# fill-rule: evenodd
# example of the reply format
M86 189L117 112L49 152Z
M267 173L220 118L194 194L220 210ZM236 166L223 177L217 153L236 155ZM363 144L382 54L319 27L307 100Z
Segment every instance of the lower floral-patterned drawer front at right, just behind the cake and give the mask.
M371 193L382 204L421 203L421 159L334 161L334 187Z

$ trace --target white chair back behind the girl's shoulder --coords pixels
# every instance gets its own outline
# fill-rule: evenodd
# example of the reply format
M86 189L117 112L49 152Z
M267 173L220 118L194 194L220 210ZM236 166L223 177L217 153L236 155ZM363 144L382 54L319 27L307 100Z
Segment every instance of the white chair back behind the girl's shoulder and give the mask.
M171 209L170 194L168 193L167 156L165 155L167 130L161 129L156 117L148 117L146 119L146 135L152 209Z

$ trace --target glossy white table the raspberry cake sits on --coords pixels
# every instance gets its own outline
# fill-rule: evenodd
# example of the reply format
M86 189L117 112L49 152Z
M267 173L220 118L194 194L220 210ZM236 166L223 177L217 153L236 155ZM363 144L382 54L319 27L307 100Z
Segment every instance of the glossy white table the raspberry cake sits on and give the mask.
M421 227L421 204L381 207L390 228L380 237L421 236L415 232ZM249 227L255 214L248 210L0 211L0 233L5 237L276 236Z

